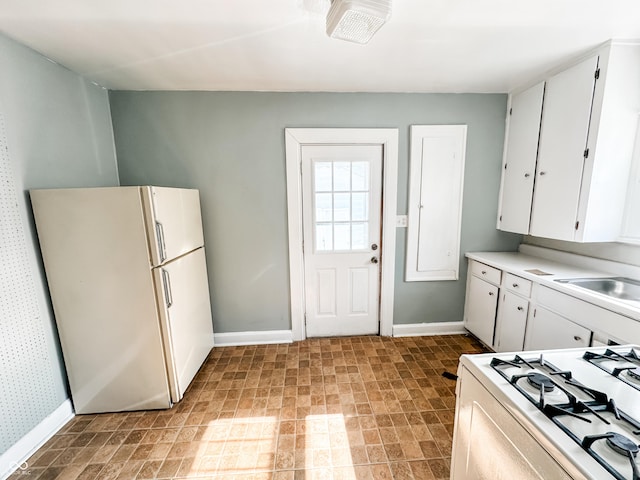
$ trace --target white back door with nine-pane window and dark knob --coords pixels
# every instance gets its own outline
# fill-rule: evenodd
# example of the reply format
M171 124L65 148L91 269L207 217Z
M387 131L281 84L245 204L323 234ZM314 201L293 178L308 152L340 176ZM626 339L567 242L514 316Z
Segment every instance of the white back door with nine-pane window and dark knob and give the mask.
M379 330L381 145L302 147L307 336Z

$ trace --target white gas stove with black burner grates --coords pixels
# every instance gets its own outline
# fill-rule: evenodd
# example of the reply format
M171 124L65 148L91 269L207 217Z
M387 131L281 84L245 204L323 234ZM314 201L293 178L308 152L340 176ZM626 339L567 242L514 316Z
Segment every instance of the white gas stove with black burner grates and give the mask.
M456 450L474 448L473 440L461 440L465 434L459 432L458 425L466 424L460 416L466 419L465 412L482 403L477 393L465 393L465 379L472 375L490 393L486 398L509 412L516 425L542 446L549 461L566 473L559 478L640 480L640 347L464 355L458 374L452 479L486 475L479 470L477 477L469 472L454 475L456 463L460 470L455 459L460 452ZM482 409L488 411L486 406ZM469 413L469 419L472 416ZM513 426L492 420L502 435L521 436ZM482 431L466 433L495 436ZM512 443L514 451L519 451L516 442ZM526 449L521 453L520 463L527 460ZM470 458L469 452L466 455Z

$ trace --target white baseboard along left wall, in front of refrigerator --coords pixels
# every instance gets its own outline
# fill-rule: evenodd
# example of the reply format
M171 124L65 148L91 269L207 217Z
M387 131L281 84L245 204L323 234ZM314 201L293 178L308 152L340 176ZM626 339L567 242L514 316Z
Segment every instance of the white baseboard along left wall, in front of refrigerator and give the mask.
M74 417L71 400L65 400L51 415L42 420L29 433L0 455L0 480L6 479L16 469L28 469L26 460L53 437ZM27 478L27 477L25 477Z

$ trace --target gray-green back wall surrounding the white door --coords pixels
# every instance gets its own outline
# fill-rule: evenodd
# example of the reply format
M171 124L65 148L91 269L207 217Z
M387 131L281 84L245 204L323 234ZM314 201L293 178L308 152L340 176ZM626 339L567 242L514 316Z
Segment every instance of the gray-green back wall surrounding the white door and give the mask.
M467 124L461 251L515 250L498 232L506 95L110 92L120 181L200 189L216 332L291 328L285 127L399 128L407 211L409 125ZM462 320L457 282L405 283L398 229L394 323Z

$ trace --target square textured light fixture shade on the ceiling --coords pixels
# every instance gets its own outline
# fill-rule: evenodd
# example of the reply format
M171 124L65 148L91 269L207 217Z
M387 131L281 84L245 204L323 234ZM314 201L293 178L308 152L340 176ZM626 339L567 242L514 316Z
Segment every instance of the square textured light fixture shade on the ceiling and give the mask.
M389 18L391 0L332 0L327 35L364 44Z

